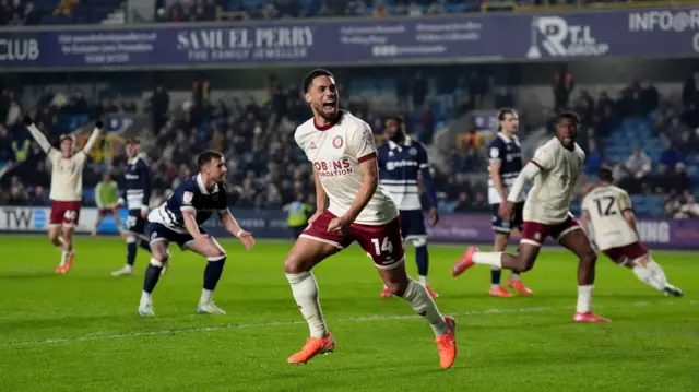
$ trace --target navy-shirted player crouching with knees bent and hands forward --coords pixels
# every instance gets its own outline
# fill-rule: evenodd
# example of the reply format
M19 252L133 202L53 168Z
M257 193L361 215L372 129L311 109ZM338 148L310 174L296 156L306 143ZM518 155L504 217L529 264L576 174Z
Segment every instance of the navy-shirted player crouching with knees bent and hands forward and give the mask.
M225 313L214 305L213 292L223 273L226 252L216 240L209 236L201 225L216 213L228 233L238 237L247 250L252 249L254 239L240 228L230 215L227 205L226 165L223 155L206 151L197 159L199 174L186 179L159 207L149 214L146 231L151 239L151 263L145 270L143 293L139 314L153 316L152 293L161 277L161 272L169 260L167 247L177 243L182 250L191 250L206 258L204 287L197 306L198 313Z

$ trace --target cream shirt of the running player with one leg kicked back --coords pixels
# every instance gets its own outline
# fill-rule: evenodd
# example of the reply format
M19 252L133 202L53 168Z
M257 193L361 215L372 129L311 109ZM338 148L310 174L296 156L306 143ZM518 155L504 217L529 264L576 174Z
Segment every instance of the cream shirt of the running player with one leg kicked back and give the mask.
M541 173L526 197L524 221L545 225L561 223L570 216L570 198L582 174L585 153L578 144L573 151L554 138L536 149L532 164Z

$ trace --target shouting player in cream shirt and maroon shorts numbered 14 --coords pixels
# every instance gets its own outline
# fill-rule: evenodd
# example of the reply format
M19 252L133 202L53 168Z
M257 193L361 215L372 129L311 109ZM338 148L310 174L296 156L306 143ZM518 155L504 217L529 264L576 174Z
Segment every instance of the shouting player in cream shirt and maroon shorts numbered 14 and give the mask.
M440 364L445 369L451 367L457 356L455 321L441 316L425 286L405 272L399 212L378 185L371 129L339 109L337 87L329 71L311 71L304 80L304 92L313 118L299 126L294 138L313 165L317 212L288 252L284 272L308 322L310 337L288 363L306 363L334 349L335 341L323 320L311 269L357 241L393 295L407 300L433 326Z

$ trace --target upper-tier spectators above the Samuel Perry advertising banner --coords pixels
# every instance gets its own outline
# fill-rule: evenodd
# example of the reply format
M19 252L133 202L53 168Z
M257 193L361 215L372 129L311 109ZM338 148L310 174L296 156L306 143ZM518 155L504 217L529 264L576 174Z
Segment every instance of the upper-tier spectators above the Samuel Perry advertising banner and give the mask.
M521 5L594 7L597 2L624 0L146 0L155 4L158 22L210 22L230 20L279 20L289 17L420 16L440 13L479 12L484 9L511 11ZM38 25L40 23L100 23L119 1L99 0L3 0L0 25ZM106 8L106 9L105 9ZM111 10L112 8L114 10ZM95 10L99 9L98 12ZM105 9L105 10L103 10ZM80 17L73 17L80 15ZM143 15L150 20L150 15Z

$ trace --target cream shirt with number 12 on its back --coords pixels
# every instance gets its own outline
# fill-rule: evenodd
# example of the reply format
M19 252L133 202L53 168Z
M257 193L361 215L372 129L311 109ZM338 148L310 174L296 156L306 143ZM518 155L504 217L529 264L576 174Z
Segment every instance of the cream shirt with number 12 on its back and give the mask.
M592 234L600 250L638 242L638 235L624 219L623 212L631 210L631 199L614 186L597 187L582 200L582 210L590 214Z

